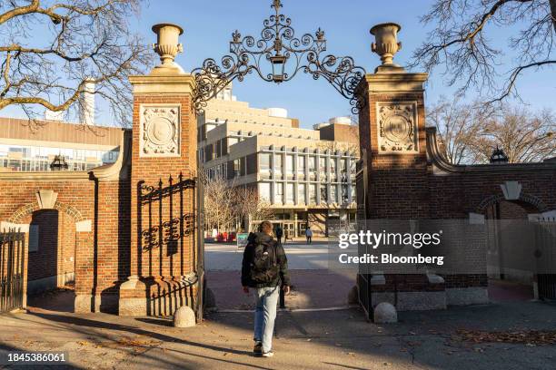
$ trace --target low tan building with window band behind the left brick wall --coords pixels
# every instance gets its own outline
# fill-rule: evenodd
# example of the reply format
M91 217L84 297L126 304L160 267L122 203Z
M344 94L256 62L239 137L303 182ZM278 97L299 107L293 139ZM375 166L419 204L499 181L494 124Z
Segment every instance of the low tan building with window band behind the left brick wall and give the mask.
M50 170L56 155L63 155L68 170L91 170L114 163L123 129L58 121L38 122L0 118L0 171Z

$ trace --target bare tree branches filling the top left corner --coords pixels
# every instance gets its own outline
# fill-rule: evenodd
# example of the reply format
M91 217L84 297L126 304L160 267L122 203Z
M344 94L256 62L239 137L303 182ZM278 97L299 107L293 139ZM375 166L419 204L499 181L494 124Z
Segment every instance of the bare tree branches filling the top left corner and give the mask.
M108 102L117 124L128 125L128 76L151 62L130 31L141 0L5 0L0 2L0 110L78 108L87 83Z

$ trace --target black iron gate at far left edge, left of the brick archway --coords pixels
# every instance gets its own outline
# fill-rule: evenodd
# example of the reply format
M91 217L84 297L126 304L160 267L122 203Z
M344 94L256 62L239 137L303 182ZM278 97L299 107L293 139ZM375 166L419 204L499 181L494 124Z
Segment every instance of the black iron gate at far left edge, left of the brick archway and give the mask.
M23 308L25 233L0 232L0 313Z

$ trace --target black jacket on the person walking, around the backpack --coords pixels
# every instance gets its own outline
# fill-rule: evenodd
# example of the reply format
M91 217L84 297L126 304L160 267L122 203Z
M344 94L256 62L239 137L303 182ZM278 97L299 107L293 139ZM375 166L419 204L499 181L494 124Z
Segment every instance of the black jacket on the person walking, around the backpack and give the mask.
M286 258L283 247L273 239L272 236L264 234L263 232L256 232L249 236L247 239L247 246L243 251L242 262L242 286L243 287L278 287L278 286L291 286L290 273L288 272L288 258ZM268 284L256 284L251 279L251 263L253 262L254 248L262 242L268 243L275 248L276 259L278 263L278 276Z

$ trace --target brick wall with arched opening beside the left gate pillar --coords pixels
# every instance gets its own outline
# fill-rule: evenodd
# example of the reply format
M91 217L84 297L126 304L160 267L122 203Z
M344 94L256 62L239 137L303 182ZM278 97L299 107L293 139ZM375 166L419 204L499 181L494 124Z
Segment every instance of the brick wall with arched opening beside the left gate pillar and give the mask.
M39 209L38 190L57 193L55 209ZM116 295L129 276L129 180L94 180L87 173L76 180L3 180L0 197L0 220L39 226L28 280L74 272L76 295L95 297L92 310L115 312L117 307L100 302ZM84 220L92 231L76 232L75 223Z

